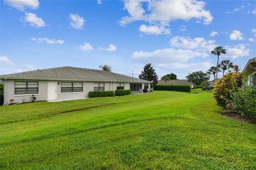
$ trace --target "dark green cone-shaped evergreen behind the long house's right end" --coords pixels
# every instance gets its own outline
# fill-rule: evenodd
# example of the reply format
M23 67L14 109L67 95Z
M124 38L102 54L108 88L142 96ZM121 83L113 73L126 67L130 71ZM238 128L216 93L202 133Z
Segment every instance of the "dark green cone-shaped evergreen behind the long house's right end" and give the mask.
M157 79L158 79L155 69L151 67L151 64L146 64L144 66L144 69L143 71L141 71L139 78L143 80L151 81L153 82L153 85L157 84Z

